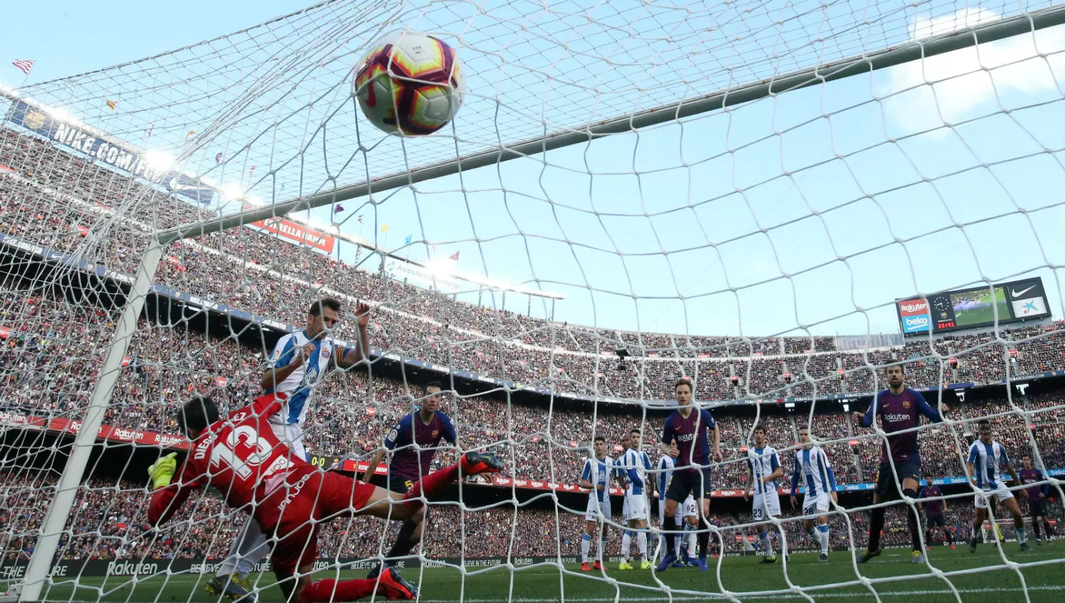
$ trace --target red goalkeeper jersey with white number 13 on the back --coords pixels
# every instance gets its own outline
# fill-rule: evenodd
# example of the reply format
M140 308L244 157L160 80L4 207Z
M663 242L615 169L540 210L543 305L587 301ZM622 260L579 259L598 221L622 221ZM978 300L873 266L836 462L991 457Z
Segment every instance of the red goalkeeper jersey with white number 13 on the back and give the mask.
M267 393L209 425L178 468L175 482L152 492L148 521L163 523L189 495L209 485L226 497L229 506L243 507L262 501L293 471L316 471L294 456L267 424L283 401L284 395Z

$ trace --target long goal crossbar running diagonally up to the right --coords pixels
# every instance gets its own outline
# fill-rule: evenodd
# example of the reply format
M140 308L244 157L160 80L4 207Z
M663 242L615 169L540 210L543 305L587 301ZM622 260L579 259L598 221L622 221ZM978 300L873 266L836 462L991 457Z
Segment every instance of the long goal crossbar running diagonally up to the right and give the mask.
M452 175L461 171L588 143L613 134L623 134L642 128L658 125L684 117L742 104L790 90L822 85L826 82L869 73L878 69L894 67L911 61L919 61L929 56L970 48L978 44L986 44L1015 35L1033 33L1062 23L1065 23L1065 5L1050 6L1033 13L981 23L971 29L950 32L920 40L910 40L875 52L841 58L825 65L800 69L789 73L782 73L760 82L740 84L724 90L685 99L676 103L646 108L632 115L589 123L580 129L563 130L537 138L505 144L498 149L490 149L456 160L430 164L410 171L386 175L374 181L343 186L327 192L316 192L307 197L298 197L249 212L214 218L197 224L177 227L161 232L160 240L163 244L173 242L181 238L201 236L249 222L285 216L290 212L311 210L340 201L366 197L371 192L391 190L435 178Z

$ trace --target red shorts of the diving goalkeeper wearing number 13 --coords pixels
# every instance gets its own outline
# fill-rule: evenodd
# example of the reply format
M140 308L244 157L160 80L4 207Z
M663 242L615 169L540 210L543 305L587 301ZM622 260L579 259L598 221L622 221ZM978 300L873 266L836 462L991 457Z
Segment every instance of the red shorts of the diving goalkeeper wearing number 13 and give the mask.
M376 486L310 468L290 473L284 482L259 505L256 517L272 540L274 571L291 574L318 557L318 521L355 515Z

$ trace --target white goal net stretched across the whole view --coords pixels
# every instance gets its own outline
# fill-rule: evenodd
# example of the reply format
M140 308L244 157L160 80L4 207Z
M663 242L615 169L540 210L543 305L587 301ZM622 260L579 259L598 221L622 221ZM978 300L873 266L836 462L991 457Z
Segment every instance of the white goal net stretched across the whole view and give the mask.
M412 482L459 449L504 470L428 497L420 538L322 521L314 580L389 560L439 602L1059 597L1063 21L1053 2L327 1L0 86L0 600L217 601L227 572L241 603L279 600L268 555L227 564L256 508L207 488L151 529L148 471L192 450L185 400L250 404L327 298L286 419L312 465L396 490L400 453ZM356 100L396 30L462 62L433 135L384 134ZM888 402L892 367L912 390ZM675 501L707 572L641 565L672 553L658 462L682 379L720 437L720 460L712 433L711 457L677 457L709 469L690 522ZM456 441L391 450L404 417L447 435L432 383ZM622 508L634 429L644 523ZM605 506L584 487L600 437ZM913 438L919 463L884 463Z

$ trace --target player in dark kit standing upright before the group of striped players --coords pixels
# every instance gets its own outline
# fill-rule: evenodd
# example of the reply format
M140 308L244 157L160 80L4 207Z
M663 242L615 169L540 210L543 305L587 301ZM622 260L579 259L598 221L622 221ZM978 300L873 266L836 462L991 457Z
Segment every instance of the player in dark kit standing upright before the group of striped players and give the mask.
M673 546L676 541L676 507L693 495L699 499L699 569L708 571L706 548L710 540L706 518L710 515L710 463L722 459L721 432L709 411L697 408L691 403L691 381L679 379L673 387L678 408L666 418L662 429L662 453L673 457L673 475L666 490L666 518L662 532L666 533L666 556L658 564L657 571L666 571L676 560ZM709 432L714 431L714 456L710 457ZM676 448L672 442L676 440Z

